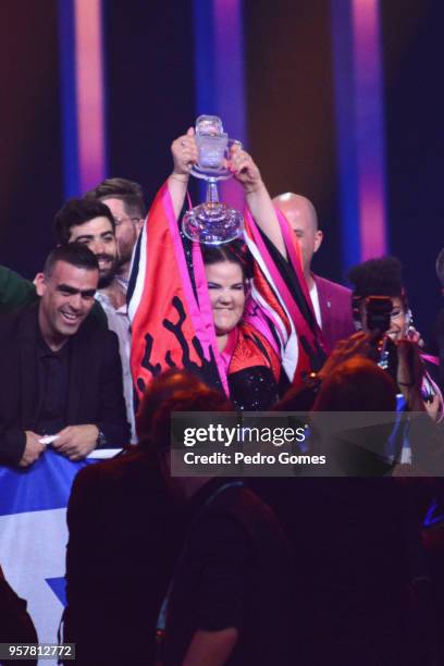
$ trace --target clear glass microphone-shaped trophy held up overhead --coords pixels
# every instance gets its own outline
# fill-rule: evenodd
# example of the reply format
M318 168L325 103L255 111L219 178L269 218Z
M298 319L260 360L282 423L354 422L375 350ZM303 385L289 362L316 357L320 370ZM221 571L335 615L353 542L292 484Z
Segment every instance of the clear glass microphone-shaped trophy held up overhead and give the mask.
M217 115L199 115L196 121L196 144L198 162L190 173L196 178L207 181L207 196L205 203L185 213L182 231L188 238L199 243L230 243L242 234L244 218L239 211L219 201L218 181L232 177L224 161L229 158L230 148L242 144L229 138Z

